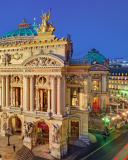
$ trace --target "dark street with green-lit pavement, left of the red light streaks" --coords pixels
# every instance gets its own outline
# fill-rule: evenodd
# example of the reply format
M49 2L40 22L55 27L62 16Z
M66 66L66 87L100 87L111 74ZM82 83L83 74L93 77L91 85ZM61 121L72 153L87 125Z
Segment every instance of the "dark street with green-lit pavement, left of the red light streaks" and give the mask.
M63 159L64 160L71 160L71 159L111 160L128 142L128 131L125 129L125 127L116 130L116 132L112 132L110 136L106 138L106 141L104 141L103 135L97 133L93 134L97 138L96 143L92 143L86 148L73 147L73 146L71 148L69 147L70 153L68 152L68 156Z

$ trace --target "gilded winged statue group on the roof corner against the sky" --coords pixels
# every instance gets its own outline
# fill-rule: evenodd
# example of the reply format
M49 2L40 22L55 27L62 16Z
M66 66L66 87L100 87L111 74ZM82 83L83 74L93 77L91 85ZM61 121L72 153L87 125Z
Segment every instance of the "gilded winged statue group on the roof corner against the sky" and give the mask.
M36 29L38 34L42 35L43 33L50 33L52 34L53 31L55 30L55 27L52 26L53 22L49 23L48 20L50 18L50 12L51 12L51 9L49 9L48 13L43 13L43 10L42 10L42 24L39 24L39 27Z

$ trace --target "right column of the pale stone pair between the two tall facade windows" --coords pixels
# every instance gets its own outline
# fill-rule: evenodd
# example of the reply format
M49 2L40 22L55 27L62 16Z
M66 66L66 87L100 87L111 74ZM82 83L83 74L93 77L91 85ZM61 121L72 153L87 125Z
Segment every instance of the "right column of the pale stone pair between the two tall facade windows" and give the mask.
M30 77L30 111L34 111L34 76Z

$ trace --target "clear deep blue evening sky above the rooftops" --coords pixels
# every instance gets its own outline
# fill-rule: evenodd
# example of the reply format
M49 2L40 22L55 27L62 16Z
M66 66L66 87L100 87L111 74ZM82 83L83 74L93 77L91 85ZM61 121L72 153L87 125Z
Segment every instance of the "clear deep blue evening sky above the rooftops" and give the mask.
M49 8L56 37L71 34L73 58L92 48L106 58L128 58L128 0L0 0L0 36L23 18L41 23L41 10Z

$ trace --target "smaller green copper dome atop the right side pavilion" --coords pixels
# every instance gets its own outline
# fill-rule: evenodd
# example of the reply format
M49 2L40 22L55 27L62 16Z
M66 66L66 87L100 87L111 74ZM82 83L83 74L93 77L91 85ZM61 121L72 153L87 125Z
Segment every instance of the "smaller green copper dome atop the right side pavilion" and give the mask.
M96 49L91 49L91 51L88 52L87 55L84 56L84 58L89 58L90 62L92 63L94 60L96 60L98 63L102 63L106 58L99 53L99 51L96 51Z

